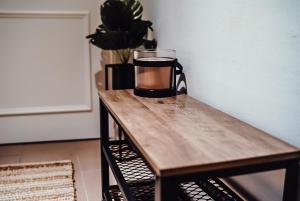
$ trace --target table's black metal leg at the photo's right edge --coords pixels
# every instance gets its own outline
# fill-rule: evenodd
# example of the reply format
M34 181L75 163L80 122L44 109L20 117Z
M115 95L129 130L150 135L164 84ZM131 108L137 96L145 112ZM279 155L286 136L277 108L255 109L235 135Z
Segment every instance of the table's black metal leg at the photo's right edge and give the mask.
M283 201L297 201L298 177L299 161L289 162L285 173Z

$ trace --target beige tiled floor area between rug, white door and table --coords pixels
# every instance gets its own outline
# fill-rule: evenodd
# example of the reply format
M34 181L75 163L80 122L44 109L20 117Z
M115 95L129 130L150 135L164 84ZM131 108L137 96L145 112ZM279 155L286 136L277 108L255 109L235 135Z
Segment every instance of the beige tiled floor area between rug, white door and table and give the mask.
M0 164L73 161L78 201L100 201L99 140L0 146Z

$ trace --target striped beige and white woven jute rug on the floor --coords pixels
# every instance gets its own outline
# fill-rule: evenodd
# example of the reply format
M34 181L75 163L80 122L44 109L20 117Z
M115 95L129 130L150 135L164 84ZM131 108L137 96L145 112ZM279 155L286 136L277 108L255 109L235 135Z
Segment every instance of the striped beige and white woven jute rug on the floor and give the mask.
M75 201L71 161L0 165L0 201Z

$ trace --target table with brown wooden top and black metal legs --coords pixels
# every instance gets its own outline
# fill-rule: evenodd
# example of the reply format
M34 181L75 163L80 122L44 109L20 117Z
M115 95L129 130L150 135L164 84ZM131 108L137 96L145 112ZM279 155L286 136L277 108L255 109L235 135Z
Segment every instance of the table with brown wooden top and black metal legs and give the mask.
M155 173L155 201L175 200L172 192L181 181L282 168L283 200L296 201L298 148L187 95L153 99L116 90L99 96L102 145L110 113ZM107 166L102 159L102 172Z

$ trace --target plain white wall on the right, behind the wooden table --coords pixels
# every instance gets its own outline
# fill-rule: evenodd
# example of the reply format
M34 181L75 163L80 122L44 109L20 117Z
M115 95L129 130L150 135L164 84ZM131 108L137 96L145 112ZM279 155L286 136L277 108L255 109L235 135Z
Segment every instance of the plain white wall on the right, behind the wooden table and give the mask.
M189 95L300 147L300 1L144 0L143 5L158 46L177 50ZM266 186L263 178L256 181L257 189ZM256 193L280 200L277 188L268 191Z

